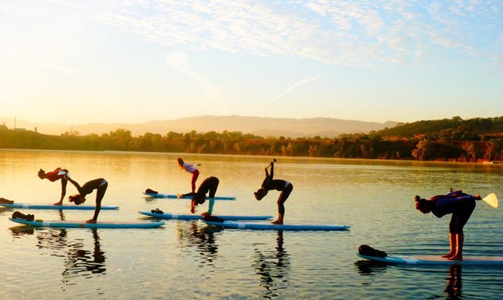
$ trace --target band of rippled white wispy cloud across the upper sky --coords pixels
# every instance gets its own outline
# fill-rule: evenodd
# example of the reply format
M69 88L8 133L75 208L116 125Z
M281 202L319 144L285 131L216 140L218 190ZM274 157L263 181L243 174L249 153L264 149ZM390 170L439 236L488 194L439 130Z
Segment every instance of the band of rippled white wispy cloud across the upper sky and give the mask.
M503 1L110 0L89 1L85 8L52 3L162 45L360 68L420 64L426 57L451 61L458 54L490 59L497 55L493 40L503 36Z

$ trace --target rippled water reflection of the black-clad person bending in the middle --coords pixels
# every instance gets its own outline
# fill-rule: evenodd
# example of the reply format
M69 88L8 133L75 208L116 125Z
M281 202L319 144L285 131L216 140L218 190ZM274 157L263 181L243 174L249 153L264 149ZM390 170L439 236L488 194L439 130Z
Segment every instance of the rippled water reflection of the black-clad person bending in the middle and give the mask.
M178 221L177 237L180 246L195 247L198 255L196 259L200 260L201 266L214 267L214 260L217 259L218 245L214 236L215 232L221 232L223 228L206 226L198 227L198 222Z

